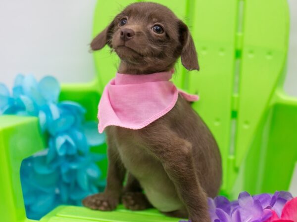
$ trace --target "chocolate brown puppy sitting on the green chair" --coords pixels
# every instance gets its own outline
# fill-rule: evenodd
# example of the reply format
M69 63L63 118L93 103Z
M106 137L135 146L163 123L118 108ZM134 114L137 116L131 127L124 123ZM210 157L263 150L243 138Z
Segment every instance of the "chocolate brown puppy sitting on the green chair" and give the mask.
M120 57L121 74L168 72L179 57L186 69L199 70L188 27L157 3L126 7L91 47L105 44ZM207 126L181 95L172 110L142 129L108 126L105 132L107 185L83 200L86 207L110 211L121 200L130 210L155 207L168 216L210 221L207 196L216 196L221 185L221 156Z

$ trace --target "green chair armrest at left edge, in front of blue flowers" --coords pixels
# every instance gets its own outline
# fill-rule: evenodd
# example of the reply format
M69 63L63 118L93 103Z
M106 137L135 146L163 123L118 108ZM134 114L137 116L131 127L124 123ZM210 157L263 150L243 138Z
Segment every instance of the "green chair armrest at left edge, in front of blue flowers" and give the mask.
M20 166L23 159L44 147L38 118L0 116L1 221L27 221L20 181Z

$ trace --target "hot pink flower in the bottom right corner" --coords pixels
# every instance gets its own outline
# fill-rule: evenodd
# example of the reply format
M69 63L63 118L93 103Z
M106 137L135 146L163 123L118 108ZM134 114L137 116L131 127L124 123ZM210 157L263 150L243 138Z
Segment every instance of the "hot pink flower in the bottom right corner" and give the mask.
M289 200L282 211L281 218L273 210L272 217L265 222L297 222L297 197Z

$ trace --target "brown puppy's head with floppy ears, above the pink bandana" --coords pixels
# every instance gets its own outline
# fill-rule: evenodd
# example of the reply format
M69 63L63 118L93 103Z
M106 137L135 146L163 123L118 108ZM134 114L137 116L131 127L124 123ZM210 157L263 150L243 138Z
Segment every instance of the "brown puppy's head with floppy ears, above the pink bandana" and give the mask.
M181 56L188 70L199 70L189 29L167 7L138 2L127 6L91 43L92 50L108 44L125 66L148 73L171 69Z

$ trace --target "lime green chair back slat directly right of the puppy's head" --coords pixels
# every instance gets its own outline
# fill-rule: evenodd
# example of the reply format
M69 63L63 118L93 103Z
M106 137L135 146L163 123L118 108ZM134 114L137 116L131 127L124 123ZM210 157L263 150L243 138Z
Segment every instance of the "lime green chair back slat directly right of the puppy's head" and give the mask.
M197 0L193 37L199 72L189 73L189 90L198 93L194 108L214 134L223 159L223 186L228 180L232 94L235 67L237 0ZM229 175L230 176L230 175Z

